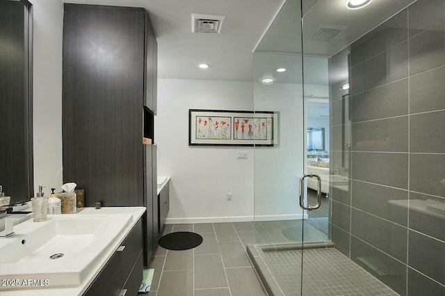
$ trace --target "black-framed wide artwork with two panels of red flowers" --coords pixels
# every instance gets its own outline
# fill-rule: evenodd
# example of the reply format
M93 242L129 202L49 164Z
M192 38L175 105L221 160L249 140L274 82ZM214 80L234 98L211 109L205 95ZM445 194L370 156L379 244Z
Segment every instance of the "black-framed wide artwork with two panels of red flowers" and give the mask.
M273 111L188 110L188 145L273 146L277 143Z

